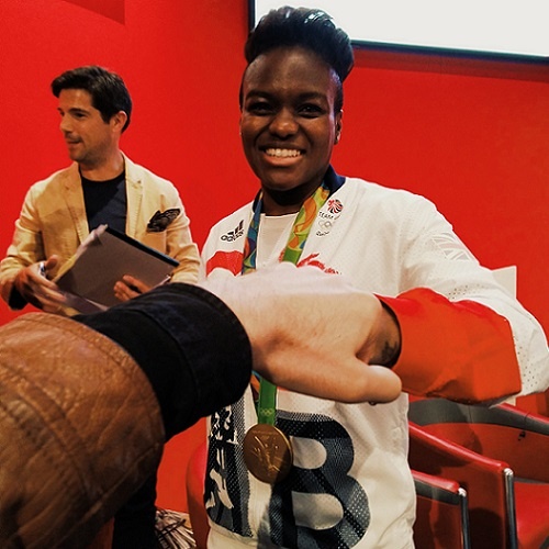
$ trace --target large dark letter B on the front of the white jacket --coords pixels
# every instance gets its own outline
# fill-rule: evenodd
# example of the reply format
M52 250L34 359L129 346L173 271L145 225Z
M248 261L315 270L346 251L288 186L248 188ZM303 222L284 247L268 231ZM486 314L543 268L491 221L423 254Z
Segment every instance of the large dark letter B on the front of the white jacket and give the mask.
M269 538L280 547L354 547L370 524L368 497L349 475L355 450L349 434L317 414L280 413L278 427L292 437L296 459L272 489Z

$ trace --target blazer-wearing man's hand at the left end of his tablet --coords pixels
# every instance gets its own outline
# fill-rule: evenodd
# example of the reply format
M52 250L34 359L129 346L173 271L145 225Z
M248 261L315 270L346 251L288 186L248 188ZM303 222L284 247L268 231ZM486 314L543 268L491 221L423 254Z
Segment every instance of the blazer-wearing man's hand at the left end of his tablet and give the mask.
M55 282L48 279L48 273L58 262L57 256L51 256L45 261L38 261L21 269L13 285L18 292L34 306L46 313L59 313L65 305L65 295Z

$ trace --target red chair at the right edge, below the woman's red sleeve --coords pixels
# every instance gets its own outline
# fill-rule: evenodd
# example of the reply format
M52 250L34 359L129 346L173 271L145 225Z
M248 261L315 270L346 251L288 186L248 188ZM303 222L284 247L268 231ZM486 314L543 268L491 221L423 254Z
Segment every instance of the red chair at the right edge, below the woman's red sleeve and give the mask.
M411 467L467 490L473 547L545 547L549 419L444 399L411 402L408 417Z

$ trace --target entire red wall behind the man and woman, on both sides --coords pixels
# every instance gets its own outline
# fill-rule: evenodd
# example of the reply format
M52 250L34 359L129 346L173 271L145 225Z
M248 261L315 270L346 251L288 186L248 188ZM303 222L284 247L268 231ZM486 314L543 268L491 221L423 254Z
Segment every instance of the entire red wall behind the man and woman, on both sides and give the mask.
M256 190L238 141L246 27L246 0L1 0L0 250L29 186L67 164L49 82L83 64L124 77L123 148L178 186L202 244ZM518 266L547 332L549 65L365 51L356 65L336 169L434 200L484 265ZM168 446L161 504L184 506L202 428Z

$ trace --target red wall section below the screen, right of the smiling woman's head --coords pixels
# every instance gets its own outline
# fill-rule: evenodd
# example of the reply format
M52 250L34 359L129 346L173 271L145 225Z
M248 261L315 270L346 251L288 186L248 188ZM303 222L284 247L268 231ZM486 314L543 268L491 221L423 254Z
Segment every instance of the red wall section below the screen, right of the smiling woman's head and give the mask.
M432 199L549 328L549 64L359 52L336 164Z

